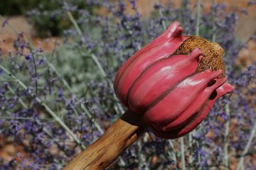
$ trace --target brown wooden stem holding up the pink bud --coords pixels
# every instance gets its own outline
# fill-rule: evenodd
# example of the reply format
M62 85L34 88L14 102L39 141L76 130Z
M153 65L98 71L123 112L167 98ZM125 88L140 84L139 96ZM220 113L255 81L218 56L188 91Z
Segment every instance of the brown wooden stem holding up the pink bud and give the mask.
M126 111L92 145L78 154L64 170L105 169L146 130L142 118Z

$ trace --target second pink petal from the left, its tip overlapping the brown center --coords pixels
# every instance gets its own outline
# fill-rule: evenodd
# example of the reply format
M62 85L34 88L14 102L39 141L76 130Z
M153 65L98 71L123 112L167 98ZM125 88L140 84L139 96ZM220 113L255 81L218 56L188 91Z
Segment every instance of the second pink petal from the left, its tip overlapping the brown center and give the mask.
M174 55L147 69L129 90L129 108L134 113L144 113L161 94L196 72L201 54L196 48L190 55Z

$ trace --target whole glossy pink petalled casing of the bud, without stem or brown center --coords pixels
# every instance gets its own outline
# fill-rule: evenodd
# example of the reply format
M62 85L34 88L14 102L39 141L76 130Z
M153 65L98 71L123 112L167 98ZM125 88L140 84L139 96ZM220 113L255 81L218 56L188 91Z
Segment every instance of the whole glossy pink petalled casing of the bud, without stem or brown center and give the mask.
M202 52L174 55L186 40L179 23L136 52L114 79L117 98L134 114L143 115L154 134L173 139L186 135L206 117L213 103L233 91L217 79L222 70L197 73Z

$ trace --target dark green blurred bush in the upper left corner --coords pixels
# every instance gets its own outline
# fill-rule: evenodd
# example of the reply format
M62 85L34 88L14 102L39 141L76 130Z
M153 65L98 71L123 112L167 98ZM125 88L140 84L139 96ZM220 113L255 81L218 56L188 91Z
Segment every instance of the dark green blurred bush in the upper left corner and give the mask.
M80 16L79 9L85 9L85 1L82 0L69 0L65 1L78 9L73 12L73 16L78 18ZM58 0L1 0L0 1L0 14L3 16L16 16L23 15L28 18L28 21L33 25L36 30L36 35L41 38L50 36L60 36L63 30L72 26L69 20L65 17L64 1ZM87 11L92 13L93 8L86 8Z

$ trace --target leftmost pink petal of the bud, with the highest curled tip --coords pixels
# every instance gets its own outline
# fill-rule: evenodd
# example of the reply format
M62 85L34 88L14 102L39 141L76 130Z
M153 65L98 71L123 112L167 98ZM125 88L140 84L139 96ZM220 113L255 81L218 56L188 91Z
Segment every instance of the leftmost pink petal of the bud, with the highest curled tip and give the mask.
M180 23L175 22L122 65L114 79L114 91L124 106L128 107L127 92L139 74L154 62L171 56L184 40L186 38L182 36Z

